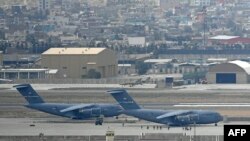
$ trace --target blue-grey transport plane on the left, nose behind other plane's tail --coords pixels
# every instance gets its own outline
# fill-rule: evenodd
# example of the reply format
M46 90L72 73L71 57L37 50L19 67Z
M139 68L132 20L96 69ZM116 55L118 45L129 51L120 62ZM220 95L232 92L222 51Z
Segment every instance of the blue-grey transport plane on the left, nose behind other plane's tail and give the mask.
M96 125L102 125L104 117L118 116L122 111L119 104L46 103L30 84L21 84L14 87L27 100L28 104L25 106L28 108L71 119L86 120L95 118Z

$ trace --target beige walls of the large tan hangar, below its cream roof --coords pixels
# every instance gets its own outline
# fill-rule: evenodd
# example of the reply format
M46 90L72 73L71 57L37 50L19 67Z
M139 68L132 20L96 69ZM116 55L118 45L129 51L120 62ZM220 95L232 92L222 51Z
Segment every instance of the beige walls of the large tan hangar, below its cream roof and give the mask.
M101 73L102 78L117 75L115 52L105 49L96 55L42 54L43 68L58 69L59 78L84 78L90 69Z

